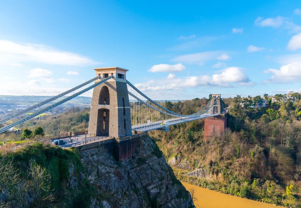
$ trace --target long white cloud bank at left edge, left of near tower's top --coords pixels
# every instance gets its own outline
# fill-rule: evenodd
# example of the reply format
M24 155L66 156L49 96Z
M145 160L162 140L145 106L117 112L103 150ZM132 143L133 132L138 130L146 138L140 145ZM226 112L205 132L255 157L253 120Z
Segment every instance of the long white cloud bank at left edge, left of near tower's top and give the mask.
M64 66L88 66L97 63L82 55L57 50L49 46L0 40L0 64L25 62Z

